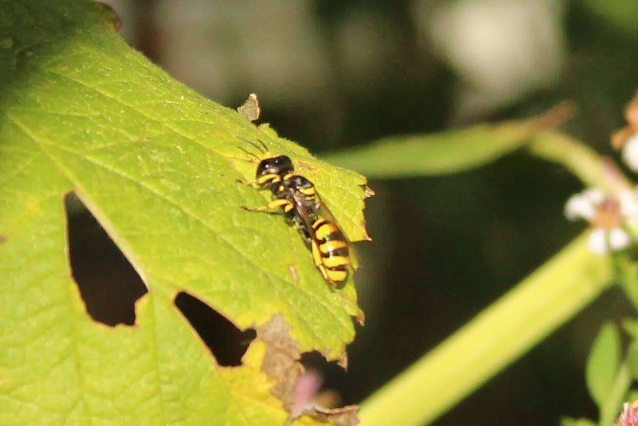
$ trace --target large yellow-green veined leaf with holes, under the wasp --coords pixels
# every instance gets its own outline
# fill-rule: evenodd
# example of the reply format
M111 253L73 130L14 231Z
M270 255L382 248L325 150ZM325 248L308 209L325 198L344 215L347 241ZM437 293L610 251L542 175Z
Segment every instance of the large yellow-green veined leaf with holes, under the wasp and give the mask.
M98 3L0 0L0 424L283 424L268 351L220 367L175 295L241 329L281 314L301 352L345 360L362 315L352 280L332 291L283 217L241 209L269 194L237 183L256 167L237 145L291 156L355 241L365 179L175 82L115 23ZM149 289L134 327L85 312L70 191Z

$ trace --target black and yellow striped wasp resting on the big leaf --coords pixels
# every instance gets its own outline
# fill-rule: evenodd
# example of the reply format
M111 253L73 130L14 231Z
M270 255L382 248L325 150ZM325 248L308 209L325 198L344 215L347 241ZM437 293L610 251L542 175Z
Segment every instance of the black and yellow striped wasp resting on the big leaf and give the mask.
M350 242L339 228L336 220L315 190L315 185L304 176L294 173L290 157L286 155L268 156L268 149L259 140L243 139L258 149L267 158L260 159L255 153L238 147L259 161L255 181L248 185L272 191L272 201L256 209L247 211L269 211L281 209L286 218L301 232L309 243L313 261L323 278L331 287L343 283L352 268Z

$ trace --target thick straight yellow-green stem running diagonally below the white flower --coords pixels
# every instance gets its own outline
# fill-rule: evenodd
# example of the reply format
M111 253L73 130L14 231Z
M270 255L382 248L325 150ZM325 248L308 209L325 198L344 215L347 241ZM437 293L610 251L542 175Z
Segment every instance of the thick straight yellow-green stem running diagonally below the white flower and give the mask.
M362 426L422 425L537 344L611 284L582 235L364 401Z

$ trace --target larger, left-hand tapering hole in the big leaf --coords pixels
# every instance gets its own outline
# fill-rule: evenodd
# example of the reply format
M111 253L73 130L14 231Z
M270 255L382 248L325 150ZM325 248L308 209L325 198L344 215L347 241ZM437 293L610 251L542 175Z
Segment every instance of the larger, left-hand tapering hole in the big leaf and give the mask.
M110 326L135 324L135 301L146 293L142 278L73 192L64 206L71 271L87 312Z

